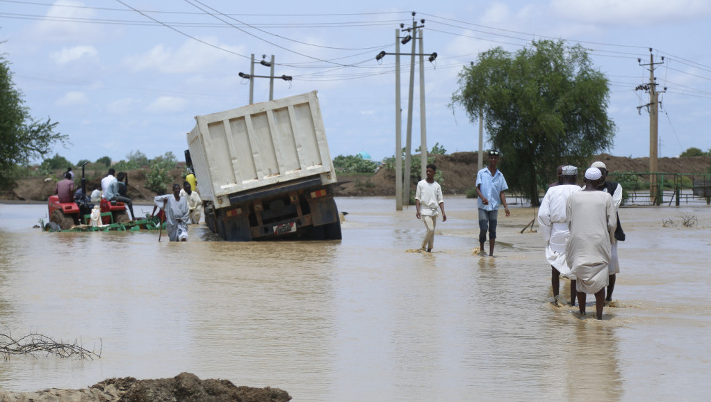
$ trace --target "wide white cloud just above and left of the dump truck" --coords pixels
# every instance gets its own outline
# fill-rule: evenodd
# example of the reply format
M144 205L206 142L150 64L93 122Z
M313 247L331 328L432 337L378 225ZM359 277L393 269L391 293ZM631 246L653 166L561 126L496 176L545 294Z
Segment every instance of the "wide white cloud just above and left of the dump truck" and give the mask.
M235 59L242 59L233 54L242 54L240 52L244 52L244 49L241 46L219 43L217 38L201 38L201 40L226 51L188 40L179 48L171 48L164 44L156 45L146 53L125 58L123 63L134 71L156 70L160 73L181 74L205 73L208 70L222 68L225 63L235 63ZM249 60L247 60L248 65Z

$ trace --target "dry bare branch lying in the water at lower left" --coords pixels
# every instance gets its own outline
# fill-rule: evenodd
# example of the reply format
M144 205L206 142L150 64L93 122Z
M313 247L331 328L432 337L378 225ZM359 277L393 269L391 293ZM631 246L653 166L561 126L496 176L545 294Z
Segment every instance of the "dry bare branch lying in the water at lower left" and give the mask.
M57 342L43 334L28 334L15 339L11 333L0 334L0 354L5 360L15 354L39 354L46 356L53 354L59 357L77 357L79 359L98 359L101 357L101 347L99 353L94 350L85 349L77 339L73 343Z

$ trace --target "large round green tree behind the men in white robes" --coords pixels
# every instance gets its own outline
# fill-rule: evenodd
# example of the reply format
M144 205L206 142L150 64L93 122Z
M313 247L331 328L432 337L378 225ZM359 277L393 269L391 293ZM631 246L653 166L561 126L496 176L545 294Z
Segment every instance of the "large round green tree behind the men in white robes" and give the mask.
M476 122L480 110L491 145L503 152L506 181L538 206L538 184L560 164L587 166L612 144L609 82L584 49L533 41L516 53L493 48L459 73L452 105ZM514 174L515 172L515 174Z

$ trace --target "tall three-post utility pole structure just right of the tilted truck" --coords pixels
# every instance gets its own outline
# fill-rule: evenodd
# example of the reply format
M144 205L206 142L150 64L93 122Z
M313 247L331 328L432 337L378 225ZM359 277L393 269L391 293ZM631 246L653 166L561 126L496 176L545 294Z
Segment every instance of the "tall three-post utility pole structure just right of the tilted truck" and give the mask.
M412 13L415 16L415 13ZM397 211L402 211L402 204L410 204L410 149L412 148L412 98L415 88L415 56L420 56L420 137L422 139L422 147L424 150L424 163L423 166L423 177L424 169L427 165L427 132L425 131L425 119L424 119L424 61L422 56L429 56L427 60L430 63L434 62L437 58L437 52L432 54L422 53L422 42L420 42L420 53L415 53L415 41L412 42L412 53L400 53L400 43L405 45L407 42L417 38L416 30L417 28L424 27L424 19L420 20L423 24L422 26L417 26L417 21L412 21L412 28L405 28L405 24L400 24L400 31L395 29L395 53L387 53L381 51L375 56L375 60L383 60L385 55L395 55L395 209ZM402 31L411 31L412 36L407 35L405 37L400 36ZM422 36L422 33L420 33ZM420 38L422 39L422 38ZM400 107L400 55L411 55L412 60L410 62L410 97L407 110L407 146L405 152L405 171L402 169L402 109Z

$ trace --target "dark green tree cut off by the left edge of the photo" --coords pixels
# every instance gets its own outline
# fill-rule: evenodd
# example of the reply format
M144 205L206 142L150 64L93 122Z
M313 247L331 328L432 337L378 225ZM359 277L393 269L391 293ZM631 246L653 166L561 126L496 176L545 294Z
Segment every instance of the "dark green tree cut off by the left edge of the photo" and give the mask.
M9 61L0 55L0 183L11 181L9 172L18 164L43 158L55 142L66 145L68 136L55 132L58 125L35 119L24 105L23 94L15 88Z

